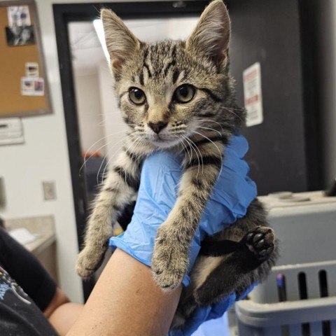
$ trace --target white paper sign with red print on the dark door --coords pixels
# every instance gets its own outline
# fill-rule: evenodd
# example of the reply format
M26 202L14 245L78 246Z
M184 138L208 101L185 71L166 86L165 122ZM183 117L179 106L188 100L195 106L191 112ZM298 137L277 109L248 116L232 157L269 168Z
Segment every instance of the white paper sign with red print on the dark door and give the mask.
M262 91L260 63L249 66L243 72L244 104L246 126L259 125L264 120L262 112Z

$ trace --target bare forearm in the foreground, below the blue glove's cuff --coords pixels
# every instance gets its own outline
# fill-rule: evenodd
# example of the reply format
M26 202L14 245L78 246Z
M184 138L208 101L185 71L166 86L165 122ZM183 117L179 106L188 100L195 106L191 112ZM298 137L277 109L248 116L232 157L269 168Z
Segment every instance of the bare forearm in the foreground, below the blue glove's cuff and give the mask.
M116 250L67 336L167 335L181 286L163 293L151 269Z

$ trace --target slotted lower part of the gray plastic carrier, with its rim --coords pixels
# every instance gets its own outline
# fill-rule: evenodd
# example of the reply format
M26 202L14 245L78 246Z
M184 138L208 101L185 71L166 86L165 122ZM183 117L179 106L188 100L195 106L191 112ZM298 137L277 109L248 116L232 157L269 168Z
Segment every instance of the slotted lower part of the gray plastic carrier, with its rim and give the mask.
M336 336L336 261L274 267L235 310L239 336Z

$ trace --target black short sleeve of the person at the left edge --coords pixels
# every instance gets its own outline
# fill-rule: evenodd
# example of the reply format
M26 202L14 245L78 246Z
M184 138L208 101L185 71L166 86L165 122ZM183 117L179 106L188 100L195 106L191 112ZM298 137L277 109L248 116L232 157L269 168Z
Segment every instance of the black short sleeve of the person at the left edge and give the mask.
M0 264L44 311L56 293L56 284L40 262L0 228Z

